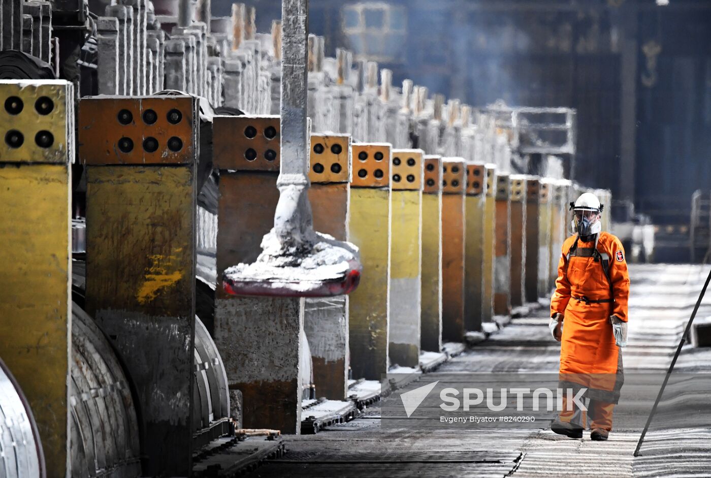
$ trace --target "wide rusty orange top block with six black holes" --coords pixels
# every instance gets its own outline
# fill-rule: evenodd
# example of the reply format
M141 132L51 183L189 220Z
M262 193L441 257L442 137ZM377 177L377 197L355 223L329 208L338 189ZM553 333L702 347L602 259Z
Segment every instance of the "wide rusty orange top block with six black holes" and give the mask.
M85 164L191 164L198 101L191 96L79 100L79 159Z

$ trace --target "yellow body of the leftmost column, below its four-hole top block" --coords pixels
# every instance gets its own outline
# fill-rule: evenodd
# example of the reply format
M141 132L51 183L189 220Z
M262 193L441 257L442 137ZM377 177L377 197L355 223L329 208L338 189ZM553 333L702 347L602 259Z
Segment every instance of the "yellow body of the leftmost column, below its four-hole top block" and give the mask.
M64 477L72 317L70 173L66 164L5 166L0 184L0 356L30 403L48 476Z

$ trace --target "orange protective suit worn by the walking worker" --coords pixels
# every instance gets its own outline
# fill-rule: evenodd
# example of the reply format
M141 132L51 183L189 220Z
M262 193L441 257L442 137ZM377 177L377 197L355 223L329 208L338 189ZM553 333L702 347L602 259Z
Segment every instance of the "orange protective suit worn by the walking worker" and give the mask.
M550 302L551 317L564 316L560 346L560 388L587 388L592 427L611 429L614 403L624 381L621 349L615 344L610 316L627 322L629 275L622 243L609 233L583 242L565 240ZM607 272L603 265L606 260ZM594 413L599 412L599 413ZM570 421L567 413L560 419Z

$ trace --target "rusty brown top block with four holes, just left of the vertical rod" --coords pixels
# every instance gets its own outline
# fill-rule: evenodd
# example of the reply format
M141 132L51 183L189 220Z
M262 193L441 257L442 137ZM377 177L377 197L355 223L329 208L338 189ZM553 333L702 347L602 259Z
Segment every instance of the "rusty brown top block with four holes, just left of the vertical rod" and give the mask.
M215 168L279 172L280 132L278 115L215 116Z

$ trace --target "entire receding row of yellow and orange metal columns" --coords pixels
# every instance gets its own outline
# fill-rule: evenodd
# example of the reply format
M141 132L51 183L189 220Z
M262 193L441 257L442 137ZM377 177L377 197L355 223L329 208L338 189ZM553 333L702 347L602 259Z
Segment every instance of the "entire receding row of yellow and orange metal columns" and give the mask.
M67 446L66 425L57 418L68 416L70 359L68 161L74 128L67 88L50 82L8 90L0 112L10 125L0 144L0 161L20 164L3 169L11 185L4 203L13 205L26 196L18 191L41 191L32 211L22 204L8 207L3 222L47 224L41 233L6 230L7 244L32 238L26 263L36 268L0 276L7 294L0 307L27 304L23 323L37 327L18 330L0 346L3 357L16 362L13 370L19 371L31 403L52 404L36 406L52 470L65 466ZM193 431L197 101L189 96L85 98L78 126L78 157L87 174L86 309L135 384L144 472L187 474ZM279 139L276 116L214 119L213 163L220 171L218 277L231 265L254 261L263 235L272 228L279 198ZM513 294L502 297L503 281L510 283L512 262L529 263L523 247L528 249L532 229L525 228L525 241L512 240L511 231L521 226L511 217L518 211L523 221L523 209L512 203L523 200L518 198L535 184L533 179L497 176L491 165L424 156L416 149L351 144L346 135L314 134L309 149L316 229L358 245L363 280L349 297L309 301L235 297L218 285L214 338L229 387L244 397L245 427L298 432L302 329L309 336L319 390L343 398L349 365L356 378L380 379L392 363L417 366L420 350L439 351L443 336L461 341L479 320L498 313L501 304L508 310ZM541 262L539 254L536 270L527 269L521 283L529 284L533 274L537 288L542 283L550 288L554 270L548 266L550 257L557 257L555 247L560 248L568 218L563 206L572 186L538 184L535 235L539 252L545 248L547 256ZM527 196L527 221L532 214L528 204L536 202L529 197L534 195ZM36 221L27 221L30 214ZM47 218L58 222L47 223ZM519 245L520 255L511 253ZM14 248L4 250L17 254ZM49 262L48 251L54 257ZM16 257L6 262L21 263ZM37 270L47 270L50 277L43 282L40 302L28 287ZM55 294L59 309L40 310L47 294ZM11 321L8 329L16 324L16 319L6 320ZM41 361L20 353L37 343L38 334L57 345L43 351L48 356ZM48 374L43 381L36 380L38 363ZM170 406L165 397L174 398Z

